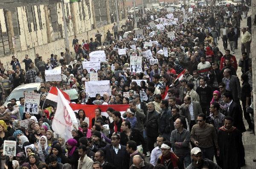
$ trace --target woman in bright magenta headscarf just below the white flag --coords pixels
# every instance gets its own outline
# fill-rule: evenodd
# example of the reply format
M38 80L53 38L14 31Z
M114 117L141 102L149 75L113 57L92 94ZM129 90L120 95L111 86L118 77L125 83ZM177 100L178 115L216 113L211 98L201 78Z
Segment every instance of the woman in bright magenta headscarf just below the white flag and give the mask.
M67 157L68 157L68 163L71 164L72 169L77 169L78 166L78 160L79 160L79 154L77 149L77 141L73 138L70 138L67 141Z

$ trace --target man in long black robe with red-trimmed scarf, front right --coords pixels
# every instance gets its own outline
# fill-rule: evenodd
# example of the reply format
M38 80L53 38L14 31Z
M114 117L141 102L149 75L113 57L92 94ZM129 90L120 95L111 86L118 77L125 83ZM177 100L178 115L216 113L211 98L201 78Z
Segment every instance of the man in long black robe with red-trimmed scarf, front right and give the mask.
M242 133L232 123L233 118L226 116L224 126L218 130L219 165L222 169L238 169L245 165Z

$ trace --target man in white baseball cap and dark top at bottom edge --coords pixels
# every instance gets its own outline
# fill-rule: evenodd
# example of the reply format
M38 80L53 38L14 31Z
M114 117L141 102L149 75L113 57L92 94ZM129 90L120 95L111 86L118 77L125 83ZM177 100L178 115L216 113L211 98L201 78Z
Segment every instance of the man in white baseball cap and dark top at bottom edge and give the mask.
M186 169L221 169L220 166L215 164L213 161L202 158L201 149L194 147L191 150L192 163Z

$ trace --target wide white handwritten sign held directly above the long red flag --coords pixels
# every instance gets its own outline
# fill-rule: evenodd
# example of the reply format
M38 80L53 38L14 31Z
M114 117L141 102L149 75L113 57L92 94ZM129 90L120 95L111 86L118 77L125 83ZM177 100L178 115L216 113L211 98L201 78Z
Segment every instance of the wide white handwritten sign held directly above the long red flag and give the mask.
M100 96L103 96L103 93L105 92L111 96L109 80L85 82L85 90L91 97L95 97L97 93L99 93Z

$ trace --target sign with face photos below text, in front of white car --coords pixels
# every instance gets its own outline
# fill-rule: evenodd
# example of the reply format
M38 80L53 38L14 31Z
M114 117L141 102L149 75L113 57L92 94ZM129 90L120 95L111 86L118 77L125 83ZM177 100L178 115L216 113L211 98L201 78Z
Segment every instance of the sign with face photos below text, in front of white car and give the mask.
M30 114L38 114L38 106L40 104L40 93L26 93L24 113L29 112Z

